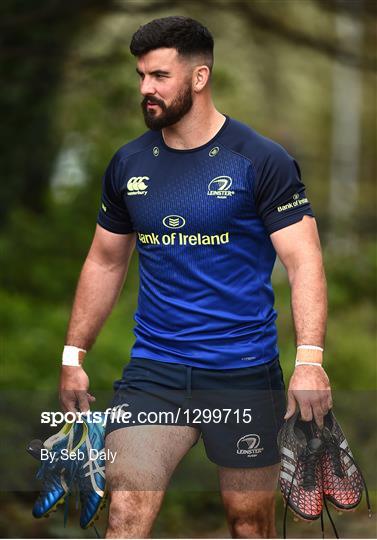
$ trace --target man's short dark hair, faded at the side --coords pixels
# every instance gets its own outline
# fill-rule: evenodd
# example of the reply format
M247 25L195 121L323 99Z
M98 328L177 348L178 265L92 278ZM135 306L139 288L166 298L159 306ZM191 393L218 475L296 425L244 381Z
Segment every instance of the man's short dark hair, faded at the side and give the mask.
M132 36L130 51L141 56L153 49L176 49L182 56L202 55L213 64L213 37L200 22L189 17L164 17L140 26Z

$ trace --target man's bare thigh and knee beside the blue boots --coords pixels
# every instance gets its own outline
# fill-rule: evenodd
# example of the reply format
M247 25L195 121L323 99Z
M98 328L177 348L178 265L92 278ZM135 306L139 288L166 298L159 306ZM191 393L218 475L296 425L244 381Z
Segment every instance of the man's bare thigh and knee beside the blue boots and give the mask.
M117 452L106 466L110 512L106 538L149 538L174 469L197 441L188 426L132 426L106 437Z

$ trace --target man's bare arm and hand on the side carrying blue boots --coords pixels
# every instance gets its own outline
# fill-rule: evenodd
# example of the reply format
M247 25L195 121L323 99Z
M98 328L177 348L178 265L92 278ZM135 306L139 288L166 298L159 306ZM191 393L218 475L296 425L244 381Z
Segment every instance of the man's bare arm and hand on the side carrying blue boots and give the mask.
M114 234L97 225L77 285L67 345L89 350L122 289L135 247L134 234ZM89 409L89 379L82 367L62 366L60 401L66 411Z

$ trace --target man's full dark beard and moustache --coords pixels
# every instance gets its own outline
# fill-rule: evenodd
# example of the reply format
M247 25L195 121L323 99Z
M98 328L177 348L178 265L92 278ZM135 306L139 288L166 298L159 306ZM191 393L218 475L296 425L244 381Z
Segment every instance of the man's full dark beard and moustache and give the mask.
M147 108L147 102L155 103L161 108L159 115L156 114L156 111L150 111ZM160 129L172 126L179 122L185 114L189 112L192 107L192 92L191 92L191 83L186 84L186 86L179 92L179 94L174 98L171 105L166 106L165 103L158 98L153 96L146 96L141 102L141 108L143 110L144 121L146 126L149 129L158 131Z

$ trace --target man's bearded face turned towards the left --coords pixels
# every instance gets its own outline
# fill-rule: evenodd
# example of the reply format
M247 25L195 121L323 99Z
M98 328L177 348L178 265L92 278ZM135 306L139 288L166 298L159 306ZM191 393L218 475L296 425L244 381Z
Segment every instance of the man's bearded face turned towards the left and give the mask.
M156 49L141 56L136 71L140 76L141 107L149 129L176 124L192 107L192 68L175 49Z

